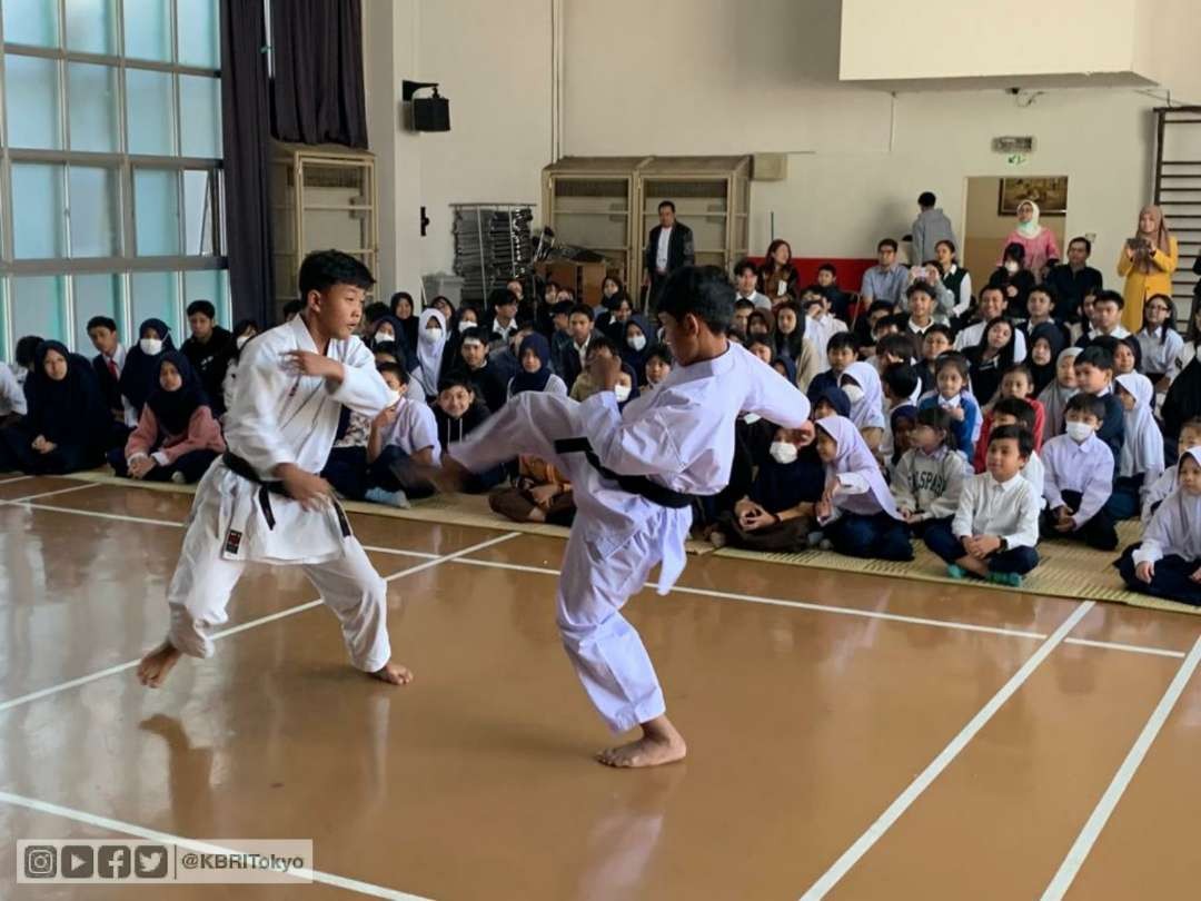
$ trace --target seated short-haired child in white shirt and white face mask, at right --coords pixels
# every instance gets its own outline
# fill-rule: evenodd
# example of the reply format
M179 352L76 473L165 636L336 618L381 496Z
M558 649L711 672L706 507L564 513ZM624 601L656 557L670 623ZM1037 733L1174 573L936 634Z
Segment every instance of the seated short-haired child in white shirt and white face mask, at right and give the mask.
M1064 435L1042 446L1045 477L1042 537L1080 538L1098 550L1113 550L1118 533L1105 505L1113 493L1113 454L1098 437L1105 404L1095 394L1068 401Z

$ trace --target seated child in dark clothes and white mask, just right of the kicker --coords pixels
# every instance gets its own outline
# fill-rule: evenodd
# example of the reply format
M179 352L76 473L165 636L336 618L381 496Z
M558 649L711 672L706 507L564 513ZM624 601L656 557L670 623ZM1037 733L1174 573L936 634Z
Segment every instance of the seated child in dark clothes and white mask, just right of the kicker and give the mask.
M759 467L751 491L721 515L709 539L718 548L805 550L813 531L813 508L824 488L821 461L802 453L795 432L777 429L770 457Z

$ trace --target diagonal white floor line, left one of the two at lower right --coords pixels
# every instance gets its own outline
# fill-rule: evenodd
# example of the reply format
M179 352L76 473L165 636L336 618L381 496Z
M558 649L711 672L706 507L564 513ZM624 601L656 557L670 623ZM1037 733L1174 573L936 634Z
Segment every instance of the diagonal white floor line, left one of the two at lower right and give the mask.
M818 901L826 896L838 881L856 864L860 858L864 857L872 846L878 842L884 834L892 827L901 816L909 810L914 801L930 788L930 784L938 778L938 776L950 766L951 762L958 756L958 753L967 747L968 742L975 738L976 733L982 729L987 722L1000 710L1002 705L1014 696L1014 693L1022 687L1027 679L1029 679L1034 670L1045 661L1071 632L1076 625L1088 614L1089 610L1097 604L1095 601L1086 601L1080 607L1077 607L1072 614L1063 621L1063 625L1057 628L1051 637L1039 645L1039 649L1030 655L1029 660L1022 664L1021 669L1010 676L1009 681L1005 682L1000 691L988 699L988 703L980 708L979 712L968 721L960 734L956 735L951 741L944 747L938 756L930 762L930 764L924 769L918 777L906 787L906 789L897 795L896 800L889 805L888 810L879 816L879 818L872 823L867 831L865 831L859 839L852 845L847 851L839 857L821 877L813 883L808 891L801 895L801 901Z

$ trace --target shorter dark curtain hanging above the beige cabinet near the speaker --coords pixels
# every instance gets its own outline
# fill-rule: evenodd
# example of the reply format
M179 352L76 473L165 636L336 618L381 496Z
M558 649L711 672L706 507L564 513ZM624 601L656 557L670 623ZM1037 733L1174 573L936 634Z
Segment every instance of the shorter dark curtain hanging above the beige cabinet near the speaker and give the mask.
M271 133L366 148L362 0L271 0Z

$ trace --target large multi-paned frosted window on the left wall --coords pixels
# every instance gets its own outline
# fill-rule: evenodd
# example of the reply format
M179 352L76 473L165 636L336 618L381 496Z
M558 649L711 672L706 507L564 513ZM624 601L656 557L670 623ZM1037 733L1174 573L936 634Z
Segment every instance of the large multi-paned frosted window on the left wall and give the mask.
M229 318L217 0L0 0L0 354Z

